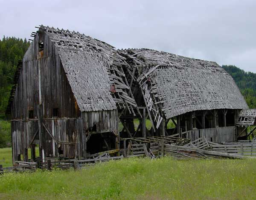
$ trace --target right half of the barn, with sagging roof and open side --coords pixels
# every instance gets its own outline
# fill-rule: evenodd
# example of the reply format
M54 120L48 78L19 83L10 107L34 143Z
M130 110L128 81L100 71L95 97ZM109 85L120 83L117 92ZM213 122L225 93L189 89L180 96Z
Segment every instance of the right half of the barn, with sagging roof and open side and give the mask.
M236 128L236 121L248 106L233 78L217 63L150 49L120 54L137 80L131 86L136 102L146 107L159 136L205 136L220 142L235 141L245 131ZM167 129L169 120L175 129Z

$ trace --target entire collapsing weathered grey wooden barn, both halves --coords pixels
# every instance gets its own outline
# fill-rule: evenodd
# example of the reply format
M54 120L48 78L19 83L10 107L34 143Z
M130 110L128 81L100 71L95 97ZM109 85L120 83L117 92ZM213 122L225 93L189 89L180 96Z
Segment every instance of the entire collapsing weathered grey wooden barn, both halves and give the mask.
M78 32L37 28L17 66L6 110L13 162L21 155L28 161L28 149L32 160L80 159L102 151L118 154L126 138L205 136L218 142L246 134L237 120L248 106L215 62L149 49L116 50ZM167 126L170 120L175 127Z

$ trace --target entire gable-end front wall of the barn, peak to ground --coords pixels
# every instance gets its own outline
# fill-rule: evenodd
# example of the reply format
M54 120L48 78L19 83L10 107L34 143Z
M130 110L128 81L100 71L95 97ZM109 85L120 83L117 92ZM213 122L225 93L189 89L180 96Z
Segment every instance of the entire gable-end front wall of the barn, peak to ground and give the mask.
M38 42L44 42L44 50L39 51ZM37 106L39 93L43 107L44 124L55 131L60 141L74 141L79 128L80 111L76 104L66 74L60 62L58 51L46 34L37 34L23 58L23 66L12 102L12 145L13 161L25 154L38 130ZM58 117L53 117L53 108L58 108ZM33 118L29 119L29 110ZM52 129L52 121L54 129ZM82 124L80 119L80 124ZM44 132L46 133L46 132ZM45 154L53 155L52 138L45 134ZM36 141L34 141L36 143ZM64 156L74 157L73 144L61 144ZM55 152L58 152L57 145Z

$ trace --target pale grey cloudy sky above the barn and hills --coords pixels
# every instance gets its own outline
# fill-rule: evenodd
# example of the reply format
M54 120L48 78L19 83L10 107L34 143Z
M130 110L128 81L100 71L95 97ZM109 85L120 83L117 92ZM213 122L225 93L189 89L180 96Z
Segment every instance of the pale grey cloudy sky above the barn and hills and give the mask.
M0 38L37 25L256 72L256 0L0 0Z

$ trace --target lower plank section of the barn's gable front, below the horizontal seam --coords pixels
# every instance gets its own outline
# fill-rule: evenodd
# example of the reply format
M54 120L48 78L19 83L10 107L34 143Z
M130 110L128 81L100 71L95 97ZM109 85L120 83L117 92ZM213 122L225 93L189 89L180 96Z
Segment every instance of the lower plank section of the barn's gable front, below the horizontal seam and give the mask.
M47 131L44 130L43 138L45 141L44 152L47 157L58 157L61 152L62 157L81 157L80 151L80 127L81 119L45 119L47 129L54 135L58 145L52 140ZM18 156L25 155L25 149L30 148L30 142L38 130L37 120L12 121L12 149L13 159L18 160ZM33 144L38 144L36 137ZM82 144L81 144L82 148Z

